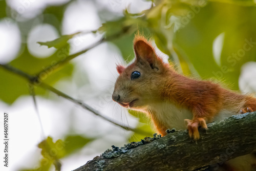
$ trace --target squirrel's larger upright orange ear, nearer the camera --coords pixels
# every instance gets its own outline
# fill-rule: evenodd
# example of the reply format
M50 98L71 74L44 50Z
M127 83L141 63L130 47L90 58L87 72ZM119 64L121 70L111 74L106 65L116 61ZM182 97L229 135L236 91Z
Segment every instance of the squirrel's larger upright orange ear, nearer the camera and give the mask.
M144 40L134 42L134 51L138 61L141 63L148 62L152 69L155 68L156 54L151 45L148 45Z

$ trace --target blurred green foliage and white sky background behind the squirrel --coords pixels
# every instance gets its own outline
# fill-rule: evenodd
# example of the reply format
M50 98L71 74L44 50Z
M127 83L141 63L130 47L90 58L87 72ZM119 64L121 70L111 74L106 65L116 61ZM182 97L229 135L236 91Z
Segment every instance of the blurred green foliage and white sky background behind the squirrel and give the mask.
M256 92L255 3L0 0L0 112L10 115L10 163L1 170L72 170L111 145L152 136L150 120L111 98L116 63L133 61L138 32L178 72ZM38 82L33 86L7 65ZM135 131L95 116L46 84ZM2 114L0 121L2 129ZM3 148L1 143L1 154Z

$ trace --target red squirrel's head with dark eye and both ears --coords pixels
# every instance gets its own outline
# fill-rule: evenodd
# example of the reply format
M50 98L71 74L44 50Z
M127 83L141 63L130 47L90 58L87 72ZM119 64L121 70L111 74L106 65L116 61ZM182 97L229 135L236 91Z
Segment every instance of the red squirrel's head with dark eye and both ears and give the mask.
M159 100L169 65L157 56L154 48L142 36L135 37L134 52L136 59L130 66L116 67L119 77L112 99L125 108L143 110Z

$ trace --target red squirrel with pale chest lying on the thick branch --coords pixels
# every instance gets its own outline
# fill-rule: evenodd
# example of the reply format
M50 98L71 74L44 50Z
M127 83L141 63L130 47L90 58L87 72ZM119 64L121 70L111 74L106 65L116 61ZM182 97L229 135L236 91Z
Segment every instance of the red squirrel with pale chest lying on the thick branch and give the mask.
M125 108L146 113L162 136L175 127L188 129L189 136L198 140L199 126L207 129L208 122L256 111L256 98L252 96L178 74L143 36L135 37L133 47L135 61L126 68L116 67L119 77L112 99Z

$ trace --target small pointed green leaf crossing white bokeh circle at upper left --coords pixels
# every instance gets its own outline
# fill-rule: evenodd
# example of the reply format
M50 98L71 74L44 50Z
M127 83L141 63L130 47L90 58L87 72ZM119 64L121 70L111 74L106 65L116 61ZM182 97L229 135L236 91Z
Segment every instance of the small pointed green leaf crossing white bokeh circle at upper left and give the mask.
M67 42L69 39L73 38L75 35L80 34L81 32L77 32L74 34L70 35L63 35L60 36L59 38L52 40L52 41L47 41L47 42L37 42L39 45L45 45L48 46L48 48L54 47L56 49L62 48L67 45Z

